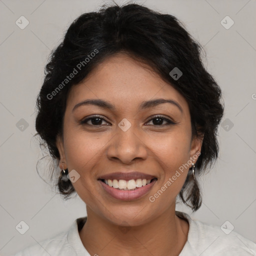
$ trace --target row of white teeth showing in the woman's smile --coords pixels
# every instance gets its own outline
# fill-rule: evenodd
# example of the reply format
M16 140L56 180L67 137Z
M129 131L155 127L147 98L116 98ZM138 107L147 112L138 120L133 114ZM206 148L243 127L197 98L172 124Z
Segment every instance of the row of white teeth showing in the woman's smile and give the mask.
M124 179L98 179L98 180L118 190L136 190L139 187L148 185L153 180L157 180L157 178L152 178L152 179L137 178L137 179L130 179L130 180L124 180Z

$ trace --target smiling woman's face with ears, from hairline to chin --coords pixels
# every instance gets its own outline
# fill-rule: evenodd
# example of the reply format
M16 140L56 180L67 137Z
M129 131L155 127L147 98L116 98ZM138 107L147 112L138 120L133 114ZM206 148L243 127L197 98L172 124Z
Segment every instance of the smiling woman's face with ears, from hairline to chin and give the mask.
M145 101L158 98L172 103L147 103L140 107ZM87 99L107 101L113 108L79 104ZM155 115L161 117L157 119ZM94 119L82 122L89 117ZM191 139L189 108L184 97L141 63L119 53L107 58L70 89L63 138L57 139L57 147L68 172L72 170L70 176L77 194L91 212L112 223L127 221L135 226L163 212L174 212L175 198L191 162L196 162L191 159L196 159L201 141ZM112 172L133 171L157 180L140 195L136 190L141 187L122 191L99 180ZM107 190L114 189L115 196L104 189L106 186ZM122 197L118 197L118 192Z

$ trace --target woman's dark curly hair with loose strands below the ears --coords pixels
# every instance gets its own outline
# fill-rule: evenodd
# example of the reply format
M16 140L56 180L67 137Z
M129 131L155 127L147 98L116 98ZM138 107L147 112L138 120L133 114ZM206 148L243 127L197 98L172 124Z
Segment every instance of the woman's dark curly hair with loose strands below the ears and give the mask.
M66 99L71 86L79 83L105 58L125 52L149 65L186 99L192 136L203 136L196 173L205 172L218 155L216 136L223 106L218 84L203 67L201 50L200 44L176 17L140 4L102 5L98 11L83 13L71 23L45 66L45 78L36 102L35 135L40 136L40 144L46 146L50 156L59 161L56 136L62 135ZM66 80L67 75L78 68L77 65L79 72ZM169 74L174 67L182 71L179 79L173 79ZM66 84L63 84L64 80ZM55 167L52 173L56 171ZM65 199L75 191L69 179L59 178L55 185ZM200 207L200 189L191 170L178 195L193 211Z

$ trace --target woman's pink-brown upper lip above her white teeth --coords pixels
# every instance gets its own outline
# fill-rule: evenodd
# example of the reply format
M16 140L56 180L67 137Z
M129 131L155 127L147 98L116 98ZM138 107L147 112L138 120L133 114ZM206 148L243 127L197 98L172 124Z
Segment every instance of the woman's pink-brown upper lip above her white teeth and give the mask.
M138 171L132 171L132 172L112 172L104 175L100 175L98 179L124 179L124 180L130 180L130 179L153 179L155 176L138 172Z

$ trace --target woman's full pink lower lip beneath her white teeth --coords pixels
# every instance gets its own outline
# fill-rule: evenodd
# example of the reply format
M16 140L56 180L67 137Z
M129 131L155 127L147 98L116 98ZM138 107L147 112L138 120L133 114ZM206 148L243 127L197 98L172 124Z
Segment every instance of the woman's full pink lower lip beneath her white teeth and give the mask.
M151 187L154 185L157 179L154 179L152 182L145 186L141 186L136 188L135 190L119 190L117 188L114 188L112 186L107 185L105 182L98 180L102 187L105 189L106 192L108 192L110 195L112 195L114 198L124 201L130 201L134 199L138 199L145 195Z

